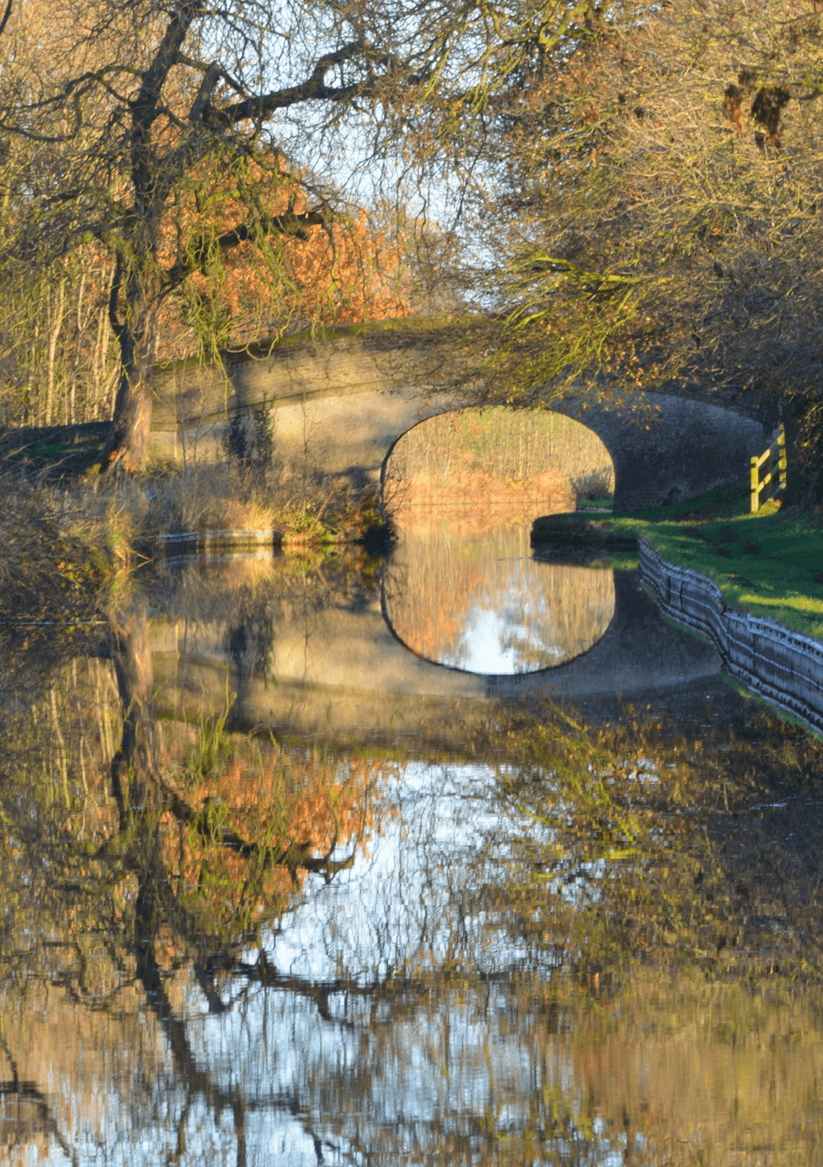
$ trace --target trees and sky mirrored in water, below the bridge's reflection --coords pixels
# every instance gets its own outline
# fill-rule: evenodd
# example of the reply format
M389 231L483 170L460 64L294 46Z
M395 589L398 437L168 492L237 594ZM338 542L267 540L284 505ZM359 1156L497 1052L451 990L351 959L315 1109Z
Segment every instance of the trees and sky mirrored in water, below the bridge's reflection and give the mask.
M817 742L718 687L359 756L159 720L147 645L5 694L10 1162L818 1161Z

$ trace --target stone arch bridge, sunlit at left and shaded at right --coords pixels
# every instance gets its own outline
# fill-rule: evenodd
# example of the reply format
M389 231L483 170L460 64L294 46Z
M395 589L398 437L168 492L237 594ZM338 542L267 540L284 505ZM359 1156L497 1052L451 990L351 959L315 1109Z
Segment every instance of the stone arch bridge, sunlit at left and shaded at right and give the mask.
M403 321L290 338L270 352L230 358L225 373L196 361L159 366L150 454L202 462L265 433L295 470L323 469L356 484L380 481L395 442L418 422L467 404L467 365L453 327ZM614 463L614 510L694 497L743 477L778 422L755 406L708 393L633 392L551 403L604 442Z

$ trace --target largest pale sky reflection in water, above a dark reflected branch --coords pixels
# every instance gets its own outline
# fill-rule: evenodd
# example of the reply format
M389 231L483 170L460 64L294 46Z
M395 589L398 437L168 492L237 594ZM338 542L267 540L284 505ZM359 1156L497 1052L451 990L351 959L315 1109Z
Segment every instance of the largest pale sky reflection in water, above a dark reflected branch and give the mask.
M522 967L522 945L491 920L466 915L469 889L458 894L462 874L476 878L493 840L486 873L494 866L505 879L509 855L494 785L488 766L406 763L368 848L333 882L317 880L283 922L272 946L276 967L315 980L345 969L364 985L445 963L484 976ZM526 816L509 818L506 834L527 824Z

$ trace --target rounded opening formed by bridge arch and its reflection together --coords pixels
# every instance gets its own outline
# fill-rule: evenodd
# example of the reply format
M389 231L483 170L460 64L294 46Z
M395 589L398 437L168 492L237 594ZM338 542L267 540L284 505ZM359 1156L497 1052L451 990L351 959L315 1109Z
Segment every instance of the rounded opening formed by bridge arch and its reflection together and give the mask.
M400 438L384 466L398 545L382 609L395 637L432 663L485 676L539 672L588 652L614 615L603 564L539 562L537 515L610 504L603 441L548 411L441 413Z

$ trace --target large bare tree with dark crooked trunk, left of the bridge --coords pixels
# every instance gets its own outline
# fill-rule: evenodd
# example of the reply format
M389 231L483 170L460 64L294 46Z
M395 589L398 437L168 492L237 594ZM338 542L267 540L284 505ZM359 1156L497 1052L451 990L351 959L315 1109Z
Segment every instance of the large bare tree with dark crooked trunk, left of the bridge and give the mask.
M588 36L593 12L590 0L58 0L48 12L21 0L0 77L14 152L6 254L27 271L90 244L112 257L108 464L145 460L170 295L196 273L219 284L246 244L275 287L289 280L288 242L323 231L333 264L335 231L364 191L413 181L423 200L432 182L459 194L495 96Z

